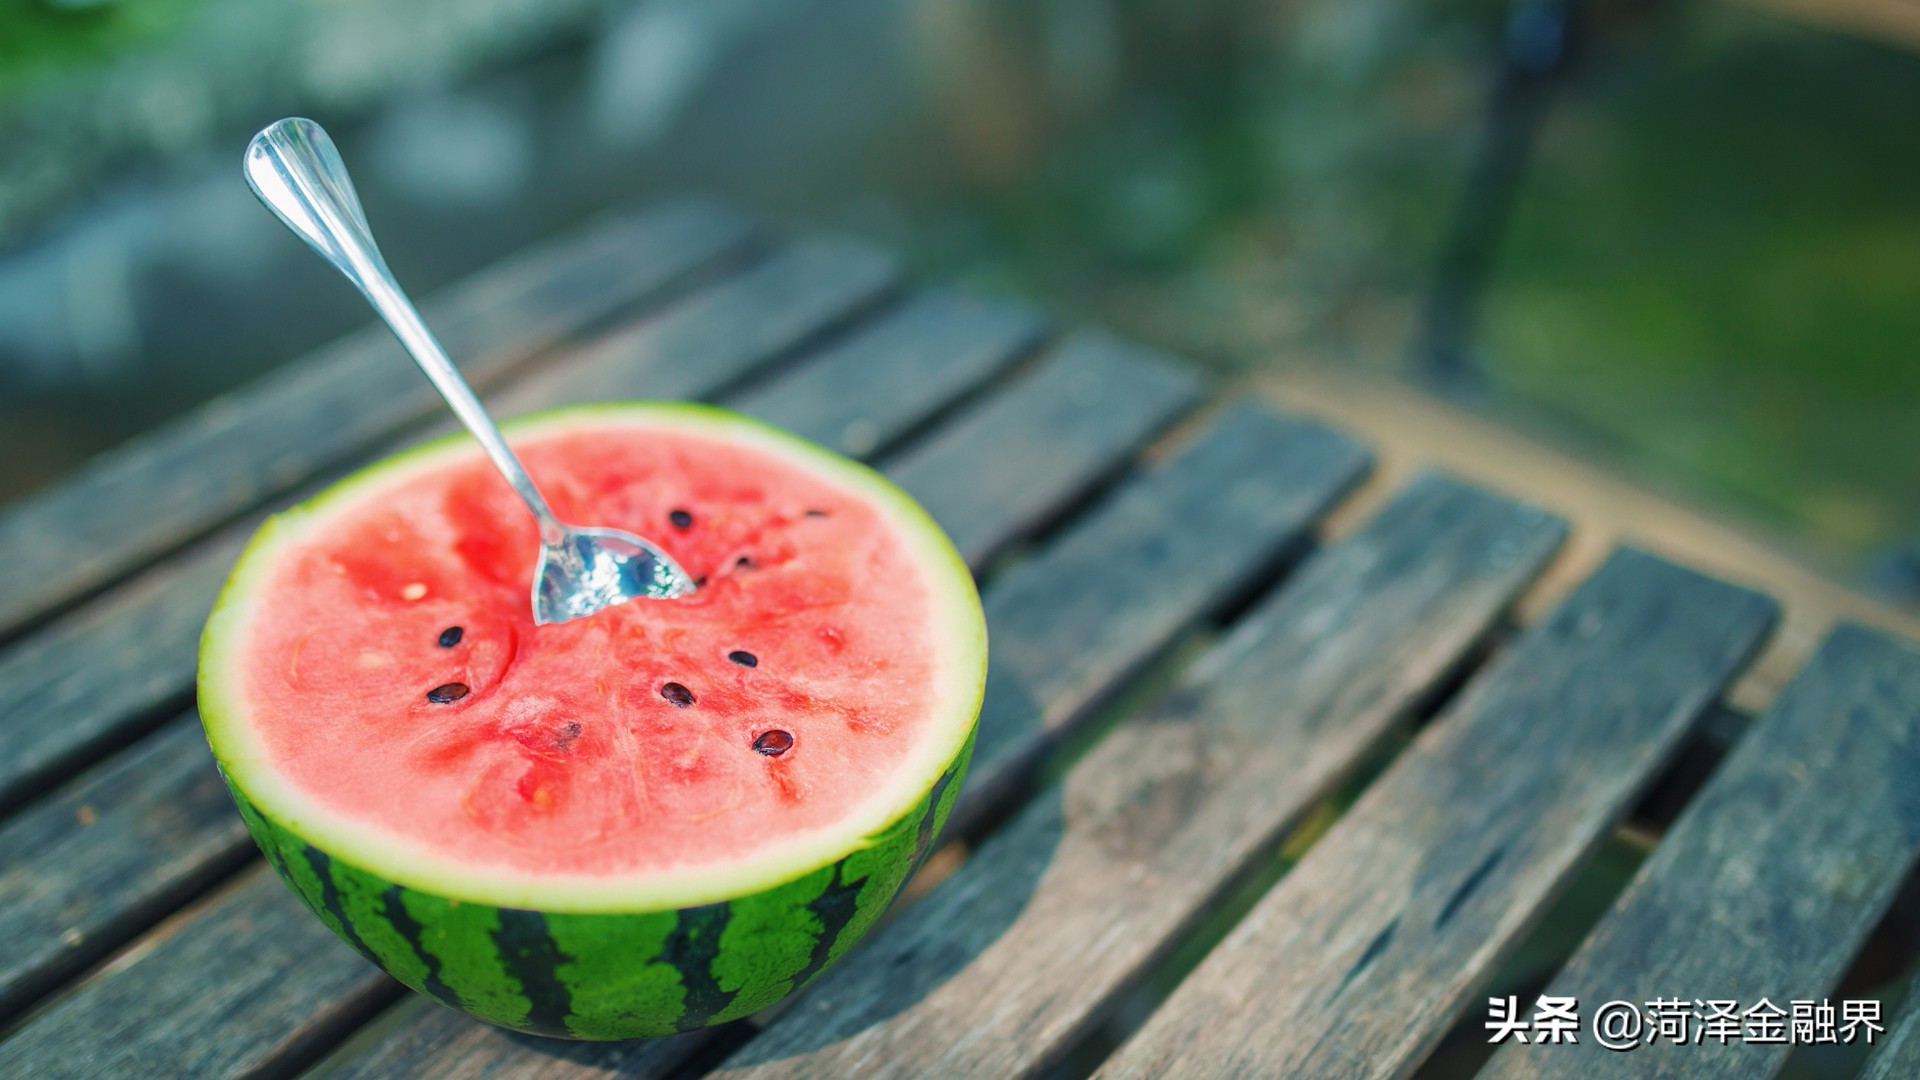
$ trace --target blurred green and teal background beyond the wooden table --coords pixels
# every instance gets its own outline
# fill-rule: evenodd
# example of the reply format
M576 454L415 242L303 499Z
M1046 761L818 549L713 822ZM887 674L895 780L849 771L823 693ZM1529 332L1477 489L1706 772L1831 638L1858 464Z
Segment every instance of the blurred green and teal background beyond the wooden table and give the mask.
M712 192L1223 371L1392 373L1914 605L1901 8L0 0L0 500L367 321L240 183L305 113L417 292Z

